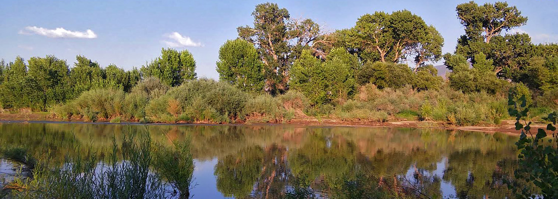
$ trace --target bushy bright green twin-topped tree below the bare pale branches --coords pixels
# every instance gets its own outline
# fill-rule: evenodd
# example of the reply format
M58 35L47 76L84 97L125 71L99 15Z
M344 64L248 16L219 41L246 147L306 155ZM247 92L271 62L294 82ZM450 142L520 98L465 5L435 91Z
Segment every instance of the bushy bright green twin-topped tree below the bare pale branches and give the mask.
M339 48L340 51L345 51ZM302 51L291 70L291 86L303 92L314 105L347 99L355 87L354 71L351 59L346 54L332 50L325 62L312 56L309 50ZM354 62L353 62L354 63Z

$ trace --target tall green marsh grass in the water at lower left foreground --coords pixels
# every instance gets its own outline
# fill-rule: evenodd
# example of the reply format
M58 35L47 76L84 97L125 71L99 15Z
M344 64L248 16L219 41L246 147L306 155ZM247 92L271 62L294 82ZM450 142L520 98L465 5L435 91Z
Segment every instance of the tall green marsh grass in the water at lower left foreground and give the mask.
M132 129L132 128L130 128ZM189 197L194 170L190 142L175 148L154 147L148 133L129 130L122 143L113 137L108 158L103 151L76 146L64 162L49 161L45 154L32 177L11 182L12 198L169 198ZM6 152L6 150L3 150ZM16 161L27 157L22 149L7 150ZM155 156L160 156L155 158ZM179 157L178 159L175 159ZM167 180L167 181L163 181ZM180 193L169 189L176 187ZM184 197L183 197L184 196Z

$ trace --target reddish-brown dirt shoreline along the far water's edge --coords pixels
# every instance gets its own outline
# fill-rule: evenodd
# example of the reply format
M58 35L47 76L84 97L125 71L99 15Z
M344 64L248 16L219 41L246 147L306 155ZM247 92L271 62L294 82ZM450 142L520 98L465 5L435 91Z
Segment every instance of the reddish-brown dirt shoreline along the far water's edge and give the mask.
M52 122L52 123L91 123L80 120L60 120L46 113L0 113L0 123L13 122ZM109 123L108 120L100 120L96 123ZM123 124L138 124L138 122L122 122ZM150 123L151 125L185 125L185 124L208 124L219 125L218 123ZM256 124L289 124L300 126L348 126L348 127L401 127L401 128L434 128L443 130L460 130L460 131L478 131L478 132L501 132L510 135L519 135L519 131L515 130L514 121L502 121L498 126L453 126L443 122L430 121L396 121L396 122L371 122L371 121L343 121L331 118L318 120L316 118L297 118L288 122L240 122L229 123L228 125L256 125ZM546 127L543 124L535 124L533 127Z

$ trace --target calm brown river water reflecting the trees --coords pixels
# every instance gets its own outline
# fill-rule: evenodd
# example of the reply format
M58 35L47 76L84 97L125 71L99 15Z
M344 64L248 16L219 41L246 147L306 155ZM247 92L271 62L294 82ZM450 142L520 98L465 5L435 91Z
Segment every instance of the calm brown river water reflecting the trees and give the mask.
M128 128L169 145L191 139L194 198L276 198L294 187L350 198L378 186L430 198L505 198L502 178L517 167L516 136L411 128L0 123L0 145L63 160L75 145L108 149Z

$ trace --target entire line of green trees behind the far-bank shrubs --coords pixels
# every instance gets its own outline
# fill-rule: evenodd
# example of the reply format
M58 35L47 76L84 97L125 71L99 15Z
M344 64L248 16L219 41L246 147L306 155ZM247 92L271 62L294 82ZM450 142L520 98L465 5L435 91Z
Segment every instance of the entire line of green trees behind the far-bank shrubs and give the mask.
M254 23L238 27L238 38L220 47L219 81L272 96L300 91L313 106L339 105L365 84L495 94L512 82L532 97L558 96L558 45L533 44L526 33L506 32L527 23L517 7L468 2L456 13L465 34L454 53L442 54L441 34L407 10L364 14L351 28L326 32L312 19L291 18L276 3L258 4ZM431 64L442 58L451 71L447 81ZM0 105L44 111L89 89L129 92L146 77L176 87L196 79L195 67L190 52L175 49L162 49L161 57L130 71L113 64L100 67L84 56L77 56L71 68L54 56L32 57L27 64L17 57L0 63Z

